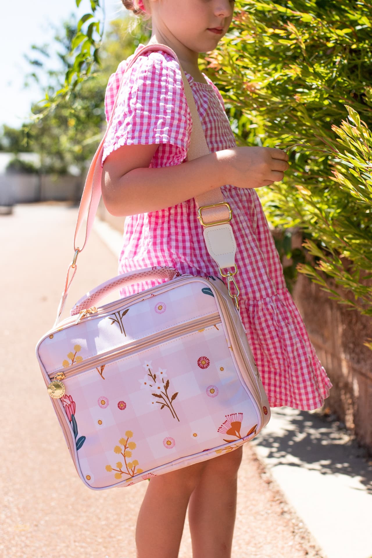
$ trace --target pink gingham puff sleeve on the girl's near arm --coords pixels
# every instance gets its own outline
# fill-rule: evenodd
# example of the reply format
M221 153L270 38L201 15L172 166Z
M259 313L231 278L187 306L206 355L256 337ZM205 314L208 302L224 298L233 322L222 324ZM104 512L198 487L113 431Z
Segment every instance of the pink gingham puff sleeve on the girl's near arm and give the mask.
M110 77L105 110L109 120L123 73L123 62ZM170 144L182 162L190 146L192 120L178 62L167 52L147 52L124 75L103 159L123 145ZM174 151L174 150L173 150Z

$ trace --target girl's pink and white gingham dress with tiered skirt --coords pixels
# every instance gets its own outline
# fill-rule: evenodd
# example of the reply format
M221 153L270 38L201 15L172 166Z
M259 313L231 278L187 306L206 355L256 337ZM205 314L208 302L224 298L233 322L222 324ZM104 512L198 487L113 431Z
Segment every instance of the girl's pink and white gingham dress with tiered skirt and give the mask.
M138 45L137 50L143 46ZM105 97L107 120L126 65L124 60L110 76ZM205 74L206 84L196 82L190 74L186 73L186 77L210 151L235 147L219 90ZM103 161L120 146L157 143L160 145L150 167L180 165L189 149L192 121L177 61L166 52L146 52L138 57L124 79L105 140ZM221 190L233 210L231 226L237 245L241 319L270 406L318 408L328 397L332 384L286 288L258 195L254 189L230 184ZM119 273L151 266L219 276L218 266L205 246L194 198L125 219ZM157 284L142 283L140 290ZM138 288L133 285L123 289L121 295L135 292Z

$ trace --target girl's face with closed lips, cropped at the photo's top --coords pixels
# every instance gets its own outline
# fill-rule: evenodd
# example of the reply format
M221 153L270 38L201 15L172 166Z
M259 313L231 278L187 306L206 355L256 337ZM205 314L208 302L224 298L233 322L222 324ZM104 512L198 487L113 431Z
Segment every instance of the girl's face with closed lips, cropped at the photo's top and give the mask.
M153 31L169 34L195 52L216 48L230 27L233 0L151 0ZM211 29L220 28L219 32Z

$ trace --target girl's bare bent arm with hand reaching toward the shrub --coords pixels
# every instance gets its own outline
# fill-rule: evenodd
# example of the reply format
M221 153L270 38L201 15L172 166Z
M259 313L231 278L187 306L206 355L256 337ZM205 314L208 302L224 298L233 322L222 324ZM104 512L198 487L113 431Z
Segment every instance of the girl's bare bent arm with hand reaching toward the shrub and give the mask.
M286 152L274 147L235 147L192 161L149 169L158 148L124 145L103 164L102 197L117 217L150 213L233 184L241 188L268 186L283 180L289 167Z

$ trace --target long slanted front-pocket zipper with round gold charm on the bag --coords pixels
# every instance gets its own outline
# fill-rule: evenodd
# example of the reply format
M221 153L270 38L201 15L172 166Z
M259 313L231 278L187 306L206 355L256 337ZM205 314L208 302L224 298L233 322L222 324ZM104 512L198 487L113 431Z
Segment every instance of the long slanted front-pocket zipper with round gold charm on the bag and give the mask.
M108 359L117 360L118 358L122 357L123 355L125 355L127 353L131 353L131 352L136 352L137 353L137 352L140 352L142 349L148 347L149 345L155 345L159 339L161 339L162 341L165 341L165 340L170 339L172 337L177 337L179 335L182 335L183 333L186 333L187 331L189 331L189 332L193 331L193 330L197 331L199 329L206 328L207 326L215 325L216 323L220 323L220 321L221 321L221 319L220 319L219 313L215 312L215 314L211 314L210 316L207 316L207 318L205 318L204 320L197 319L197 320L194 320L192 323L190 323L187 326L181 326L177 329L171 329L171 330L167 331L165 334L151 335L146 340L141 341L141 343L138 343L138 341L133 341L132 343L129 343L123 349L119 349L119 350L115 350L115 351L112 351L112 352L105 353L105 354L101 355L99 358L87 359L87 360L85 360L85 362L83 364L79 364L78 366L73 367L70 371L66 371L66 368L63 368L63 369L60 369L59 371L52 372L51 374L49 374L49 377L52 378L54 376L54 378L55 378L55 381L52 382L52 384L56 383L56 378L57 378L57 381L59 383L62 383L61 379L70 378L71 376L75 376L75 374L79 374L80 372L83 372L85 369L89 370L90 368L96 368L96 366L98 366L99 363L101 363L102 361L107 362ZM50 386L51 386L51 384L50 384ZM62 384L62 386L64 387L63 384ZM61 393L61 395L59 397L62 397L62 395L63 395L63 393ZM54 397L59 398L57 395L55 395Z

